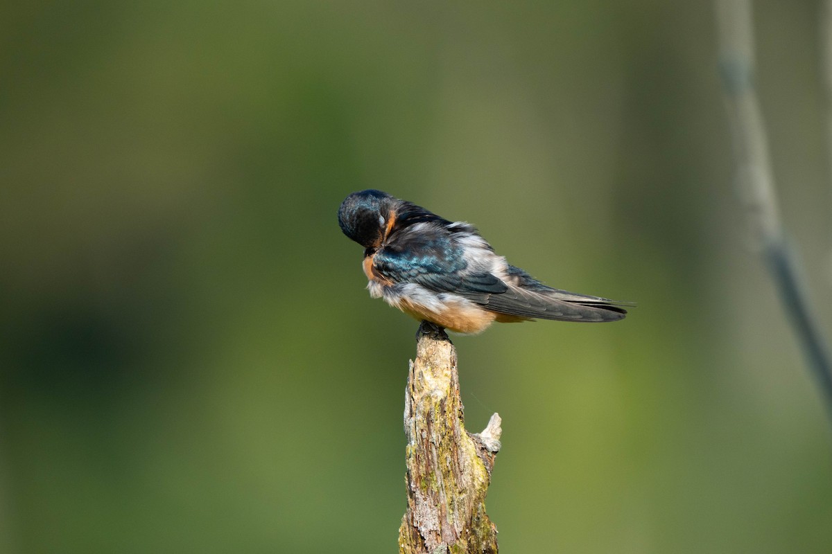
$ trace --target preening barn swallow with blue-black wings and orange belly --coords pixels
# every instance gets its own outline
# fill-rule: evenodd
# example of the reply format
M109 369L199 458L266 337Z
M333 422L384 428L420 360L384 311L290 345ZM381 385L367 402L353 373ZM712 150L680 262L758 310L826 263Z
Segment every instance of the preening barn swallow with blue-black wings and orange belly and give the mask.
M369 293L417 320L473 334L493 321L617 321L632 306L547 287L498 256L477 229L380 190L350 194L344 234L364 247Z

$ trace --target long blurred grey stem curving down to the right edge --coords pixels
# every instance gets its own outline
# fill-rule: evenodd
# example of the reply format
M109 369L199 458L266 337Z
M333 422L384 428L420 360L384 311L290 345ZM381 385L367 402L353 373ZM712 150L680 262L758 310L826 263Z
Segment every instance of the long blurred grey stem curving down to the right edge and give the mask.
M780 222L768 140L754 83L754 30L750 0L716 0L720 70L737 159L740 199L801 341L832 418L832 362L812 316L805 283Z

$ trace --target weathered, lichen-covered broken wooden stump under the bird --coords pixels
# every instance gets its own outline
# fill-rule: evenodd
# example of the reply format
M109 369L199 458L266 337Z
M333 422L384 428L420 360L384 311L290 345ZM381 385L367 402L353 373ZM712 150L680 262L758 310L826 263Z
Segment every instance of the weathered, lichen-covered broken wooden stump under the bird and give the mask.
M416 338L404 398L408 507L399 552L498 552L485 495L500 449L500 416L493 414L482 433L468 433L453 344L427 321Z

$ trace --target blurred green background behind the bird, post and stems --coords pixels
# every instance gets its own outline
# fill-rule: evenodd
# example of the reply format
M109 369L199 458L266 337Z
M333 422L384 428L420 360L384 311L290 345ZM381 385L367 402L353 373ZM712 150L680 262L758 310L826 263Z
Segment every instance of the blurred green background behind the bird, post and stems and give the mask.
M817 2L756 4L827 334ZM733 189L709 2L5 2L0 552L394 552L417 323L346 194L639 306L458 337L503 552L832 552L832 434Z

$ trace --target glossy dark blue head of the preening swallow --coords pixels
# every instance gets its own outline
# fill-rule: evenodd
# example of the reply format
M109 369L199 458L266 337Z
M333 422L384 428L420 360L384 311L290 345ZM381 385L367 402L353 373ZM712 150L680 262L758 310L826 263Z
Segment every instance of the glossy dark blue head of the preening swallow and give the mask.
M350 194L338 209L341 230L364 248L378 247L396 202L397 199L380 190Z

